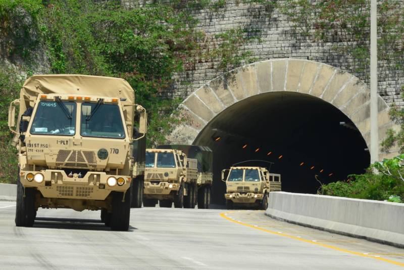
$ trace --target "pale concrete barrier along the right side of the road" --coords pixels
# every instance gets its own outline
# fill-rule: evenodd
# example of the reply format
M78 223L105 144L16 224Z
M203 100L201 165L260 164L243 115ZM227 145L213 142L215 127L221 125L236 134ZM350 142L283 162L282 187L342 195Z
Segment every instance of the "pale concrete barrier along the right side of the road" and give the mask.
M266 215L332 233L404 247L404 204L271 192Z

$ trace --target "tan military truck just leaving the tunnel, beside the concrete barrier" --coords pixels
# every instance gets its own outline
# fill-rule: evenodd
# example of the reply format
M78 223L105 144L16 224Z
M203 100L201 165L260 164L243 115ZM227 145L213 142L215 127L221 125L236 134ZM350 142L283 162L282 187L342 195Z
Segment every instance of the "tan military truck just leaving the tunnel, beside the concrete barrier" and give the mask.
M222 181L226 182L224 197L227 209L249 207L266 210L269 193L281 191L281 175L270 173L264 167L232 166L222 170Z

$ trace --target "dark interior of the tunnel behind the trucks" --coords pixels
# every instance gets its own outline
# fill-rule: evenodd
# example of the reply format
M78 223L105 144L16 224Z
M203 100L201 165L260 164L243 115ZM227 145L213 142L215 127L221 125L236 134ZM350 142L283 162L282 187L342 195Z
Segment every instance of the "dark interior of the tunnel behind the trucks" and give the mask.
M360 131L340 110L294 92L260 94L235 103L212 119L194 145L213 150L212 202L225 202L221 170L244 160L266 160L280 173L282 191L316 193L320 183L362 173L370 154ZM248 165L268 167L265 162Z

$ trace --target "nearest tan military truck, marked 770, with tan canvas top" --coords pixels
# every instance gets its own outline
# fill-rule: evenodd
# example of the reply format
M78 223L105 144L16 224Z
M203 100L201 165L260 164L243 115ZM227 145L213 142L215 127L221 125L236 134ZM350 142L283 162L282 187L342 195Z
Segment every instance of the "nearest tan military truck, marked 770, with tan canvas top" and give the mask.
M107 226L127 231L131 201L141 200L146 117L124 79L28 78L9 108L19 136L16 226L33 226L40 207L71 208L101 210Z

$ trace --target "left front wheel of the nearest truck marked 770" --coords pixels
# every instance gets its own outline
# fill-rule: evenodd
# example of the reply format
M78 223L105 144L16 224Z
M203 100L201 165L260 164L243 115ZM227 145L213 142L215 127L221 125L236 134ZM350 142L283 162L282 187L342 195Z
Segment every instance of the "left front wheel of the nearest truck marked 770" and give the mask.
M20 182L20 177L17 178L17 199L16 199L16 226L17 227L32 227L34 224L35 210L35 189L25 188Z

